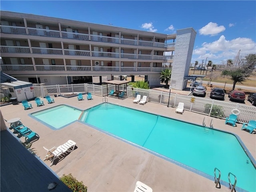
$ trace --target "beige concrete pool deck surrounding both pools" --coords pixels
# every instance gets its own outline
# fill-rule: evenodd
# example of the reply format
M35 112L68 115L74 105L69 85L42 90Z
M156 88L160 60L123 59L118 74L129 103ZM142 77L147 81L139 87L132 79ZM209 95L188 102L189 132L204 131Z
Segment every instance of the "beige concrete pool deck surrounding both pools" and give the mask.
M59 96L54 98L55 103L53 104L47 104L46 99L43 98L44 106L36 107L36 103L30 101L33 106L30 110L24 110L22 104L19 103L18 105L2 106L1 112L6 120L20 117L21 122L25 126L38 133L40 139L33 142L32 148L35 148L36 154L41 160L46 155L46 150L44 150L43 146L52 148L53 146L57 147L64 144L68 140L75 141L77 148L66 155L65 158L59 161L56 160L51 167L49 161L45 161L44 163L58 176L72 173L77 180L83 181L84 185L88 187L88 192L133 191L138 180L150 186L155 192L229 191L226 186L215 189L213 180L168 162L122 140L113 138L78 121L61 130L51 130L44 124L28 116L32 112L60 104L68 104L84 110L102 103L103 97L92 95L92 98L93 100L86 100L86 95L84 95L85 100L78 101L77 97L64 98ZM256 134L249 134L241 130L242 124L232 127L225 125L225 120L223 119L186 110L183 114L177 114L175 113L176 108L168 108L167 106L151 102L145 105L134 104L132 100L131 98L121 100L108 97L108 102L113 104L152 112L195 124L202 124L205 117L205 124L209 126L213 119L214 128L237 134L253 158L256 159ZM100 120L100 117L95 118ZM129 121L131 120L125 120L124 117L124 124L115 125L113 122L113 126L129 126ZM10 124L6 123L6 126L9 127ZM23 141L24 138L21 138L21 140ZM235 157L230 157L230 160L232 158Z

